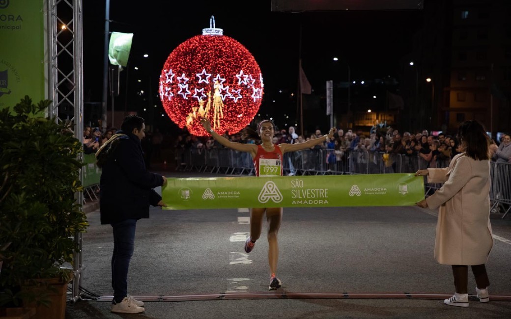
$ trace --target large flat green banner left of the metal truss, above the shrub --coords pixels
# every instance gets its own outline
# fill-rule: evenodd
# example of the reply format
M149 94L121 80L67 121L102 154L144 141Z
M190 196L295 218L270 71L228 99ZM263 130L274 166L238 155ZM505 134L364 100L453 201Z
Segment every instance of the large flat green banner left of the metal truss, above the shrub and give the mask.
M0 1L0 109L44 95L44 1Z

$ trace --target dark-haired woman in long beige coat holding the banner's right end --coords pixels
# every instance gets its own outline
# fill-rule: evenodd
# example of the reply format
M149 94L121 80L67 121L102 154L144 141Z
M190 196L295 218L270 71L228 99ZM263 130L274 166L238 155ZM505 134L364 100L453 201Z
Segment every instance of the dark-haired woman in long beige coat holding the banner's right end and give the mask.
M444 183L433 195L417 203L439 207L436 224L435 259L452 265L456 293L444 300L451 306L468 307L468 265L476 280L480 302L490 301L485 263L493 247L490 225L489 138L475 120L460 125L458 138L464 152L448 168L420 169L415 176L427 176L428 183Z

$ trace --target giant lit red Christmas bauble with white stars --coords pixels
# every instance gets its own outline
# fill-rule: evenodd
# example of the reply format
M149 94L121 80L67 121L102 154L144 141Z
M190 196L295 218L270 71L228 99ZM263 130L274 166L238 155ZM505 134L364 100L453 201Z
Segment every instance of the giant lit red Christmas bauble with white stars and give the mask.
M263 97L263 76L246 47L215 28L179 44L169 55L159 81L167 115L191 134L208 133L200 119L211 120L218 133L234 134L254 118Z

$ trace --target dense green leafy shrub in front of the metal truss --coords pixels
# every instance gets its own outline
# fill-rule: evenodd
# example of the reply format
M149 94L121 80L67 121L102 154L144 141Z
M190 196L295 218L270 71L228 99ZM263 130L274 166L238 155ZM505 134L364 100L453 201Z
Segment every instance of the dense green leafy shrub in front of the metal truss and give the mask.
M71 280L61 266L72 263L74 236L88 226L75 196L83 144L44 116L50 105L25 96L0 110L0 307L48 305L55 288L45 280Z

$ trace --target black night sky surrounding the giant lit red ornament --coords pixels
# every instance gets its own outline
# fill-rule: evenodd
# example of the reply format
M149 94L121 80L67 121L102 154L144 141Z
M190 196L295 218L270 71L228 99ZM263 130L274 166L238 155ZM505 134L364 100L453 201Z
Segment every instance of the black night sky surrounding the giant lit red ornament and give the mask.
M413 34L423 23L421 10L272 12L259 2L146 1L138 6L110 2L110 31L134 33L128 72L121 72L121 96L133 101L132 68L147 72L157 94L161 67L176 46L202 33L215 17L224 35L243 44L259 63L265 82L261 111L271 112L278 90L297 91L298 59L313 89L326 80L346 81L346 61L355 81L397 77L411 52ZM104 2L83 3L84 90L86 102L101 102L104 52ZM300 50L301 28L301 50ZM148 59L142 57L149 54ZM337 56L340 60L334 62ZM128 78L126 79L126 76ZM128 85L126 94L126 85ZM156 102L157 99L156 99ZM295 112L295 106L279 106ZM128 109L130 107L128 106ZM161 108L161 104L159 104ZM162 108L161 108L162 110Z

